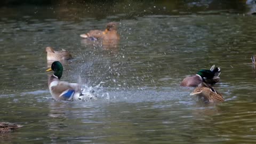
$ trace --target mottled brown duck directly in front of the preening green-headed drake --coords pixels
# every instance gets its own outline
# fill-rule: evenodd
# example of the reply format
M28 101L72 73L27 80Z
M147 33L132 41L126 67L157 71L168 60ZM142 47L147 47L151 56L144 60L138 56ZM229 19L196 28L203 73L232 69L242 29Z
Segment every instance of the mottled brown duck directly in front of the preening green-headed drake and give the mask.
M205 103L224 101L222 95L205 82L202 82L200 86L196 87L195 90L190 93L190 95L197 96L199 99L202 99Z

